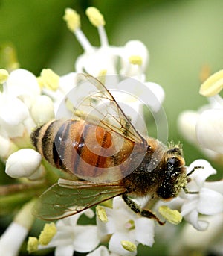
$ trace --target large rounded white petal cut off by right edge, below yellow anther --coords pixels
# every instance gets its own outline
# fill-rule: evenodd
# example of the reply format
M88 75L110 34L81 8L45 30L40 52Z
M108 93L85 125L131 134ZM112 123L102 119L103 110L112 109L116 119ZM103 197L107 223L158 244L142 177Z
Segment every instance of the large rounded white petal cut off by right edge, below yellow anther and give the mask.
M201 146L223 154L223 110L205 110L198 118L196 134Z

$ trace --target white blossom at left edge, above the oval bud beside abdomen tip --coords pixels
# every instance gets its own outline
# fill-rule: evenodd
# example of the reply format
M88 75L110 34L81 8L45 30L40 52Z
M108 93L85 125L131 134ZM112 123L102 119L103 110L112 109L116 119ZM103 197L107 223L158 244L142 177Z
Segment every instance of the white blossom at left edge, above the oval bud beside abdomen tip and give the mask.
M1 69L0 76L4 76L3 71ZM16 69L4 79L0 93L0 137L4 140L4 152L0 155L3 160L16 146L30 146L29 134L35 126L30 107L39 93L36 77L25 69Z

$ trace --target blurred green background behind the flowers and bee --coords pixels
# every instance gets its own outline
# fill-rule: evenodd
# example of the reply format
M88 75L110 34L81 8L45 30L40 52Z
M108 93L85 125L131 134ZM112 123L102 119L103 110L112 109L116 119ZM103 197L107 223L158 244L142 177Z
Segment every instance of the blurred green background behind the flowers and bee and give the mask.
M201 70L208 67L212 74L222 69L223 1L1 0L0 50L12 44L20 66L35 75L46 67L59 75L74 71L74 62L83 50L62 16L65 7L76 9L81 15L83 31L98 46L97 29L85 16L88 6L97 7L103 13L111 45L121 46L132 39L145 43L150 54L147 81L161 84L166 93L164 109L169 140L184 143L187 163L204 157L181 138L176 119L182 110L197 110L206 103L198 94ZM147 249L139 255L146 252L152 251Z

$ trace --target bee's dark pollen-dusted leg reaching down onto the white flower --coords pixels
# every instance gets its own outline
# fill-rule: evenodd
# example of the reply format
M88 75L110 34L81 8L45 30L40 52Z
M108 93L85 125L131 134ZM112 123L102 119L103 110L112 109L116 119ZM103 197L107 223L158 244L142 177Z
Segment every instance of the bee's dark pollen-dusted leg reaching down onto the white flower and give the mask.
M158 217L155 216L155 214L152 213L151 210L142 209L139 205L132 201L132 199L129 199L129 197L126 194L123 194L123 200L126 202L126 205L128 205L129 208L133 210L135 213L138 213L141 216L149 219L155 219L160 225L165 224L165 222L161 222L161 220L158 219Z

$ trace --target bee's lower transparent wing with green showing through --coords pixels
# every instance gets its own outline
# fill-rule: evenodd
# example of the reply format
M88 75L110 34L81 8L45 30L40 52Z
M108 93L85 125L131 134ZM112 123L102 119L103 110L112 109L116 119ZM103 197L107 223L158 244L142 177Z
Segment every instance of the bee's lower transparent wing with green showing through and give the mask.
M117 184L93 184L88 181L56 183L42 193L33 207L33 215L40 219L62 219L88 209L100 202L125 193Z

